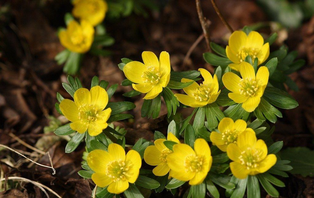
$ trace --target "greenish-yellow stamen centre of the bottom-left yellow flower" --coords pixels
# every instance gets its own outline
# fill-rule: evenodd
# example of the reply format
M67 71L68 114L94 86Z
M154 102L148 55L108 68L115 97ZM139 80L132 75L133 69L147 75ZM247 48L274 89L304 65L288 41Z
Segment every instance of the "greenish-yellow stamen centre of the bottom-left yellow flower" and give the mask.
M122 180L126 180L127 177L131 176L128 173L130 166L132 164L125 164L123 160L114 160L109 162L107 165L106 175L113 179L114 182Z

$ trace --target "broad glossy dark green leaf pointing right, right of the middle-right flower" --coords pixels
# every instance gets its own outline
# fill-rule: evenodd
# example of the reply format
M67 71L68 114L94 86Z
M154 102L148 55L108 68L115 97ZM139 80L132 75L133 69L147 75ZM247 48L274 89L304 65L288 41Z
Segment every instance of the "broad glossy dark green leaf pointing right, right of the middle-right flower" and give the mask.
M293 109L299 106L298 102L287 92L275 87L266 87L263 98L272 105L282 109Z

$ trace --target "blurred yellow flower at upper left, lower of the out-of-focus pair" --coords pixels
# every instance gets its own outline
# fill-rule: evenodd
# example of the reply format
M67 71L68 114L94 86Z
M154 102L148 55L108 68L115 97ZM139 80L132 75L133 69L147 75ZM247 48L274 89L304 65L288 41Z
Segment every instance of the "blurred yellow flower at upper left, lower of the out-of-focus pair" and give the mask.
M94 40L94 27L87 21L81 24L70 21L66 30L61 30L59 39L61 44L71 52L84 53L89 51Z

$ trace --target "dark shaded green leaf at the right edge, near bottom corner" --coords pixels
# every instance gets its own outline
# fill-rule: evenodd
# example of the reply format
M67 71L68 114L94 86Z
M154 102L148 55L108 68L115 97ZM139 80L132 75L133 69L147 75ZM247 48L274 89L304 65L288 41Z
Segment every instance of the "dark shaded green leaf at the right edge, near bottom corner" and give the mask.
M282 159L291 161L292 174L300 174L303 177L314 176L314 151L306 147L292 147L279 153ZM276 164L275 167L278 167ZM282 165L281 165L282 167ZM284 169L283 167L281 169ZM285 169L287 170L287 169Z

